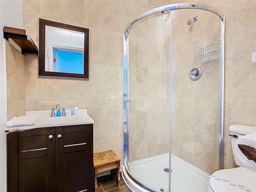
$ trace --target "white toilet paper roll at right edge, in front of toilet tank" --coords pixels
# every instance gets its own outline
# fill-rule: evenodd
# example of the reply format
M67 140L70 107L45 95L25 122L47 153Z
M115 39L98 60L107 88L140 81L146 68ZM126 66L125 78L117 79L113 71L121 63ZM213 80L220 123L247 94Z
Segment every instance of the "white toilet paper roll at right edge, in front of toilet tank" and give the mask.
M238 144L253 146L256 148L256 133L251 133L242 137L239 137L236 140L236 146L235 151L238 159L245 164L246 166L249 166L251 168L256 168L256 163L253 160L248 160L246 156L242 153L242 151L238 148Z

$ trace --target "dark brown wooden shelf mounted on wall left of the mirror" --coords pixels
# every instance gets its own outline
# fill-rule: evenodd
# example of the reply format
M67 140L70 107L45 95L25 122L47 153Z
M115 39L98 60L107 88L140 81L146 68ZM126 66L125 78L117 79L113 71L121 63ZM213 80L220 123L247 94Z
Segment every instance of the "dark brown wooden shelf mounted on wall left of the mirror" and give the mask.
M11 38L21 48L21 53L38 54L38 48L28 32L24 29L4 26L4 38L9 41Z

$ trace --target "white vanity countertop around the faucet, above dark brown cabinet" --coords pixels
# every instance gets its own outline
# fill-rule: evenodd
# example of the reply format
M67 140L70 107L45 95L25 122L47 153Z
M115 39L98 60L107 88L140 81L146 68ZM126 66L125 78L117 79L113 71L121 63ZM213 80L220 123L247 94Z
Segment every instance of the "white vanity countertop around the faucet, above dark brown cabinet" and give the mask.
M62 110L60 110L62 112ZM65 110L66 116L51 117L51 110L27 111L26 115L37 115L37 122L30 126L5 127L7 132L24 131L41 127L56 127L68 125L92 124L94 120L87 114L87 109L78 109L77 115L71 115L70 110Z

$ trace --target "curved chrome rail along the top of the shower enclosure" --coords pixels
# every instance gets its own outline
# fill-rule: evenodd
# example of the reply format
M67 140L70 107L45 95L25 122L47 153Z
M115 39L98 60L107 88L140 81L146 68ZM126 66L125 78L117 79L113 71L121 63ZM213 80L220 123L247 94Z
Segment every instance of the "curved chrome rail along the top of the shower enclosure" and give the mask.
M148 10L142 14L140 14L137 18L132 20L132 22L128 23L128 25L125 27L124 30L124 37L128 38L129 36L129 29L130 27L136 23L138 20L143 19L146 16L159 13L159 12L164 12L164 11L170 11L170 10L175 10L175 9L201 9L201 10L206 10L213 12L214 14L218 15L220 19L223 21L224 20L224 14L216 9L213 6L202 4L202 3L176 3L176 4L170 4L170 5L165 5L161 7L157 7L151 10Z

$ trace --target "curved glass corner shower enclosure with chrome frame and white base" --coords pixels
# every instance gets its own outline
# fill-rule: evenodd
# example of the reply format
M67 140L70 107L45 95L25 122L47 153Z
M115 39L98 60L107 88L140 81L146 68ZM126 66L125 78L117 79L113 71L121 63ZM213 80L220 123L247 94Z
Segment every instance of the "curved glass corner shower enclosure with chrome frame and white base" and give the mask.
M154 8L124 31L124 165L134 191L206 191L223 167L224 16Z

